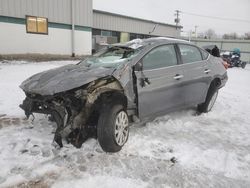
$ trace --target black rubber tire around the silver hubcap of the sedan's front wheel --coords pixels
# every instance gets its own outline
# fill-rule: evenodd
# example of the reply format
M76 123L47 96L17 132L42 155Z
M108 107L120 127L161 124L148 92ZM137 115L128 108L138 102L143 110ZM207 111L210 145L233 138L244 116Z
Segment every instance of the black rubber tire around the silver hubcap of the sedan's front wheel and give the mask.
M115 134L116 131L116 118L119 114L126 114L127 123L128 115L126 113L126 109L121 104L110 104L105 105L101 110L98 126L97 126L97 138L100 146L105 152L118 152L122 149L123 145L128 140L129 135L129 126L127 126L127 135L125 142L123 144L118 144L117 136ZM124 129L125 130L125 129ZM118 134L117 134L118 135ZM124 135L124 134L123 134Z

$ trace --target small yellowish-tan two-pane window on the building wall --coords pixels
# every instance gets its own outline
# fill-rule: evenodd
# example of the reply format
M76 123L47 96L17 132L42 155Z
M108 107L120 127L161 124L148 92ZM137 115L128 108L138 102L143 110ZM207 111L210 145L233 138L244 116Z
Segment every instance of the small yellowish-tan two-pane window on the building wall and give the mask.
M27 33L48 34L48 19L36 16L26 16Z

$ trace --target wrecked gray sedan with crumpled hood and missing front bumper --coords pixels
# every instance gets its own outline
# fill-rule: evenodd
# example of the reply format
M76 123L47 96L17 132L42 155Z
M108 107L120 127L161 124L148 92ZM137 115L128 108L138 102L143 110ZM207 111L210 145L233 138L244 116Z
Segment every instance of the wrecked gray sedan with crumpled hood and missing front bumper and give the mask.
M28 78L20 107L27 118L48 114L60 147L67 133L78 148L97 137L104 151L117 152L133 123L195 105L210 111L226 81L222 60L203 49L182 40L138 39Z

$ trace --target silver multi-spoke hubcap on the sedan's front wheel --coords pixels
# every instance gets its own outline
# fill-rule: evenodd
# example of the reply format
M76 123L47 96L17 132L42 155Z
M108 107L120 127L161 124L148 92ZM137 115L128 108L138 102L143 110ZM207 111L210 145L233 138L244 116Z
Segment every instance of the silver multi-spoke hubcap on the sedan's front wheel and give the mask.
M128 139L128 115L120 111L115 119L115 141L119 146L123 146Z

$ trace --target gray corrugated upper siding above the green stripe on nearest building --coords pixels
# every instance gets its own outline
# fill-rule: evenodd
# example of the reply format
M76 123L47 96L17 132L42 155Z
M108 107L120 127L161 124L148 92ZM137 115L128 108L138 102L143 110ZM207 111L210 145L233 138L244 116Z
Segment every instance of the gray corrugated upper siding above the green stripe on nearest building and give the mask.
M75 24L92 27L92 0L74 0ZM71 23L71 0L0 0L0 15L25 18L41 16L49 22Z

